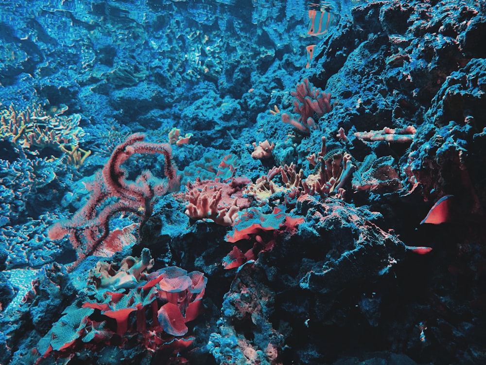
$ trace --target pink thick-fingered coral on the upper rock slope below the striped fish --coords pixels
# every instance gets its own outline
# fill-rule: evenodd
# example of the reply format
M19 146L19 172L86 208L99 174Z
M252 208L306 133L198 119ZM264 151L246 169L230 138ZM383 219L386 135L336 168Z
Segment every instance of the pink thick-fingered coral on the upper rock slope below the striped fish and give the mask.
M309 134L311 129L317 129L316 120L331 111L331 94L313 87L307 78L297 84L291 95L295 97L294 111L300 116L295 120L290 114L282 113L282 121L304 134Z

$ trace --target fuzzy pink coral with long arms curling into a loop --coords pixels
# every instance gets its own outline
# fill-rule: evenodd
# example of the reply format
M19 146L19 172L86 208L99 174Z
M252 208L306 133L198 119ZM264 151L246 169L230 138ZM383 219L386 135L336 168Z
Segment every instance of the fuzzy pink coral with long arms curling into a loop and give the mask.
M54 223L49 230L51 239L61 239L69 234L72 246L78 254L75 265L91 255L99 246L109 243L109 221L117 213L131 213L140 219L152 214L153 198L163 195L177 183L175 166L169 145L142 142L143 134L132 134L113 151L93 183L87 186L92 194L86 204L71 219ZM165 175L168 181L156 178L148 170L142 171L135 181L126 179L127 172L121 167L137 153L163 154Z

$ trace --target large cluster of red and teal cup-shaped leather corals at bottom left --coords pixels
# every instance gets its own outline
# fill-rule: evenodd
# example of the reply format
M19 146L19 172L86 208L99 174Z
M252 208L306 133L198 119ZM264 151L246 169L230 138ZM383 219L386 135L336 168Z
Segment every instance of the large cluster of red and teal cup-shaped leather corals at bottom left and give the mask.
M135 264L123 274L127 262ZM90 271L93 285L86 290L94 299L85 301L81 308L72 304L63 311L61 318L39 341L36 349L41 357L38 361L52 353L56 357L69 356L87 344L90 348L123 347L131 341L131 346L150 352L178 351L189 346L194 338L186 335L189 330L186 323L202 310L207 278L201 272L188 273L175 266L148 274L146 271L152 263L148 249L142 251L140 258L126 257L116 274L103 274L109 279L109 285L99 280L98 269L106 263L98 263ZM120 275L132 279L120 281Z

